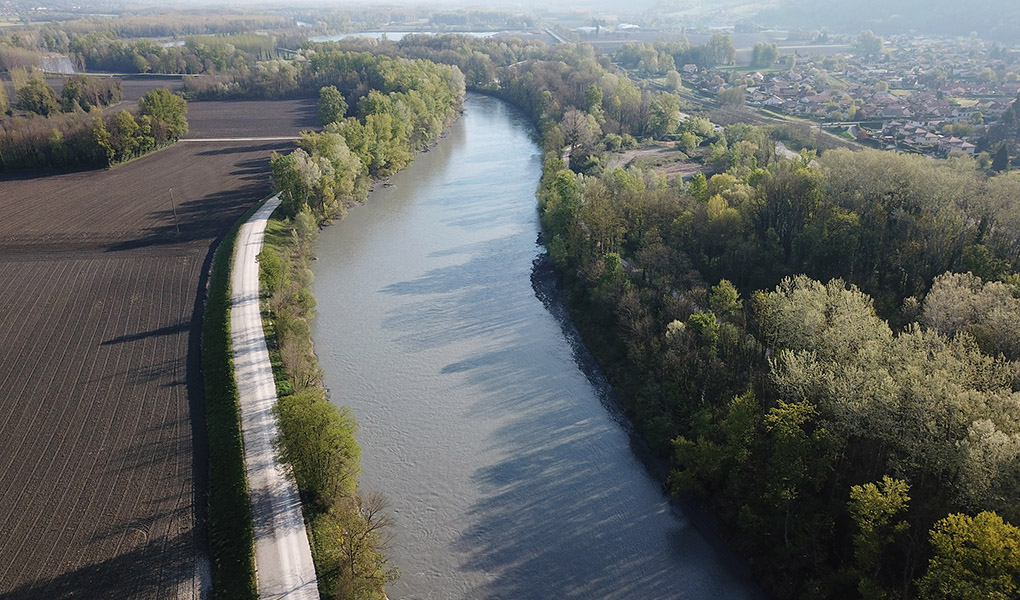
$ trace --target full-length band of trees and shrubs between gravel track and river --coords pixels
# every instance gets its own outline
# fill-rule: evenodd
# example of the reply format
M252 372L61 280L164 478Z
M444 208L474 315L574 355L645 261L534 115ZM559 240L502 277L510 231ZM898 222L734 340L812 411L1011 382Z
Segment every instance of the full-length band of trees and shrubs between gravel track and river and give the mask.
M273 221L275 233L259 255L275 354L286 370L278 446L305 500L323 597L380 599L398 577L384 555L391 517L381 496L359 493L357 420L328 401L322 385L308 324L308 262L321 221L342 217L365 198L373 178L407 165L460 113L464 80L456 67L365 53L323 52L306 68L311 79L335 84L319 94L323 130L303 134L290 154L273 154L285 218Z

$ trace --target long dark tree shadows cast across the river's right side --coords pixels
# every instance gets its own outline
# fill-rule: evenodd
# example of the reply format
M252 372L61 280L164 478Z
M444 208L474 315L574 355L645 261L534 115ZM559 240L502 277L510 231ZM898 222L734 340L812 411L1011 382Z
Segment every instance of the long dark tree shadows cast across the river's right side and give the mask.
M468 482L477 497L451 547L457 568L482 582L470 594L756 597L635 455L548 273L536 274L537 252L519 235L496 237L436 253L466 259L381 290L408 300L382 321L406 352L473 349L441 369L474 399L456 427L498 423L476 450L487 457ZM530 289L520 285L527 277Z

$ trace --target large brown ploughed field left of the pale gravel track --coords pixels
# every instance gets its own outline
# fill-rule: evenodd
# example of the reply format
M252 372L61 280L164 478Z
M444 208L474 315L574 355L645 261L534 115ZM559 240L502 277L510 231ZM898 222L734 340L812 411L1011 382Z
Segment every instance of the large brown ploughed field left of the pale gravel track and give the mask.
M293 103L251 109L241 122L300 129L278 124ZM190 110L201 137L239 127ZM203 597L199 301L213 244L289 147L178 144L0 178L0 599Z

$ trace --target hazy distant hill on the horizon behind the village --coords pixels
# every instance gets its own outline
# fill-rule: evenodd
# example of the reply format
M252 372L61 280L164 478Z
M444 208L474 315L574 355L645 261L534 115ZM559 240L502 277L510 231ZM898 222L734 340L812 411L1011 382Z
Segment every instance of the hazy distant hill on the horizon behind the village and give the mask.
M842 33L967 36L973 32L987 40L1020 41L1020 0L780 0L763 8L756 20Z

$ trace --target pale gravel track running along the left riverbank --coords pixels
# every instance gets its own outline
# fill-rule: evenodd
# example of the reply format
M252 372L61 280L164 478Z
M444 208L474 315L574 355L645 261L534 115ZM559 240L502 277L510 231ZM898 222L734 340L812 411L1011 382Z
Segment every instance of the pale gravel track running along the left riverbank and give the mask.
M231 273L231 344L238 380L245 467L255 526L259 598L318 600L315 568L294 478L276 459L276 386L259 312L258 262L269 214L268 200L242 226Z

